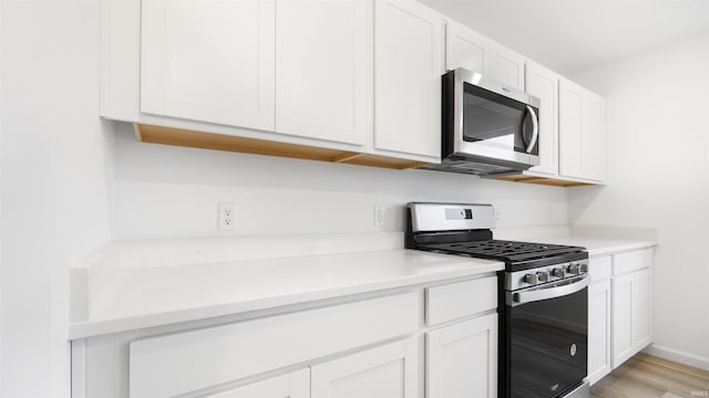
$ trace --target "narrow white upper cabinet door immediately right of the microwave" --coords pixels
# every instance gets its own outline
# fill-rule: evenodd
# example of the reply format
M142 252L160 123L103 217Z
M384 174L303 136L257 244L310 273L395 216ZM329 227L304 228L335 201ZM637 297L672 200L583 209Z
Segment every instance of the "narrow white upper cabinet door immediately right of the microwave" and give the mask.
M558 75L528 62L526 64L526 92L542 101L540 106L540 166L531 171L552 176L558 174Z

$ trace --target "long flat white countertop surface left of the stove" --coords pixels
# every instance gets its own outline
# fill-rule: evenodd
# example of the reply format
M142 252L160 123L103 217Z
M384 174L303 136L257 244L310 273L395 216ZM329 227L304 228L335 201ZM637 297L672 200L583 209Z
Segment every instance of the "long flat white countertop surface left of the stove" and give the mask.
M86 298L71 339L502 270L502 262L382 250L327 255L126 268Z

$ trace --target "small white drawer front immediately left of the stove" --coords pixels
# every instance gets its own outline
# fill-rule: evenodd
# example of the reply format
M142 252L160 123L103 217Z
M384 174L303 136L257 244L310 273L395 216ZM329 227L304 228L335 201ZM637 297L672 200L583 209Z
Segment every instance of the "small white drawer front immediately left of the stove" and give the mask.
M435 325L497 307L497 277L483 277L425 290L425 323Z

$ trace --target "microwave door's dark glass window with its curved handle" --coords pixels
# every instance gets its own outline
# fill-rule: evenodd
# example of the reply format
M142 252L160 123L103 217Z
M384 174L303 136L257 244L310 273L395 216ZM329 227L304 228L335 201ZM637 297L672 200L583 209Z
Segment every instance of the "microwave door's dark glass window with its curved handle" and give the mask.
M523 103L463 84L463 140L491 149L526 153L533 123Z

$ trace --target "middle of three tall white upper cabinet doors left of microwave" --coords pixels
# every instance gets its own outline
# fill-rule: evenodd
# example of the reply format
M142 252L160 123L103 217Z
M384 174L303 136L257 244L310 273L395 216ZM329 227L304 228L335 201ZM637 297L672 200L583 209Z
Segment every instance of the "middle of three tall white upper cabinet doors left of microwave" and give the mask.
M348 144L373 132L373 2L276 1L276 132Z

